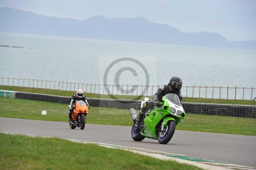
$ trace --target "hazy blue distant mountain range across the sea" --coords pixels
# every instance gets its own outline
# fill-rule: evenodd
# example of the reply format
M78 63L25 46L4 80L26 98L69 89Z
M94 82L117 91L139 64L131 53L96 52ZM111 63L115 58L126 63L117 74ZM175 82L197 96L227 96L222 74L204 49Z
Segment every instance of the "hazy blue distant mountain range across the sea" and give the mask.
M183 33L175 27L153 23L142 17L108 19L97 15L76 20L44 16L8 7L0 8L0 16L0 32L256 49L256 41L229 42L218 33Z

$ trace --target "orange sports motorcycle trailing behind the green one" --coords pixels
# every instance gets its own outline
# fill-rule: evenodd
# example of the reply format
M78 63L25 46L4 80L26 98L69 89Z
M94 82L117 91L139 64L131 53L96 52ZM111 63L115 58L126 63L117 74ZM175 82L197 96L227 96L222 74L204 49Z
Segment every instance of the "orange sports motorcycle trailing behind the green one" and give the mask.
M75 109L72 112L72 120L69 121L69 126L71 129L74 129L76 127L84 129L86 123L86 116L89 110L88 106L83 100L76 100L76 104L74 106ZM70 105L68 107L70 107Z

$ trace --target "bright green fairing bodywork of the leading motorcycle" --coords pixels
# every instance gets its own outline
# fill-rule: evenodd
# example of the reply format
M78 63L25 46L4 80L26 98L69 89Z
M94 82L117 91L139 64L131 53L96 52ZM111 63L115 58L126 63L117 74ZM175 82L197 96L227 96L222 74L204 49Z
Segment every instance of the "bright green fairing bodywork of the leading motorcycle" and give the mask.
M148 116L145 117L144 119L145 130L144 130L144 133L140 132L141 135L157 140L158 139L157 125L159 124L159 122L163 120L164 127L165 127L169 120L174 120L177 125L181 119L184 119L186 117L184 109L181 114L183 117L181 117L181 115L177 116L175 114L172 114L167 98L163 97L162 100L164 101L164 105L161 107L155 106L152 109L152 111L148 114Z

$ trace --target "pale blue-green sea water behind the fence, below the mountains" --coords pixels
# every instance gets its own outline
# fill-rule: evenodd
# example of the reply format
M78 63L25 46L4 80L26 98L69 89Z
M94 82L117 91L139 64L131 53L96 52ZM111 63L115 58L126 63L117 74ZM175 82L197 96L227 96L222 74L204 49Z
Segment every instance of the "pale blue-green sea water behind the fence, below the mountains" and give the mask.
M107 83L118 79L124 85L145 85L148 73L149 85L179 76L184 86L256 87L256 50L10 33L0 33L0 45L26 47L0 47L1 77L103 84L113 61L134 58L138 62L124 59L112 66Z

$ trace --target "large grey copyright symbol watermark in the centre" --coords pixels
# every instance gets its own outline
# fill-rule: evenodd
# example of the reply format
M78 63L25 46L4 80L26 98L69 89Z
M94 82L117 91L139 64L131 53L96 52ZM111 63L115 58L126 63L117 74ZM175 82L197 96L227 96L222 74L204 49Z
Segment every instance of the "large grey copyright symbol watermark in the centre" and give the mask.
M112 99L116 100L119 103L133 103L134 101L120 101L119 98L117 98L114 94L112 94L110 92L110 90L108 89L108 83L107 83L107 77L108 77L108 72L109 70L116 65L117 63L121 62L121 61L131 61L137 65L139 65L141 67L141 69L143 70L143 72L145 73L145 77L146 77L146 84L145 84L145 88L143 90L141 90L141 94L139 94L137 97L134 97L132 100L139 100L140 96L144 96L147 92L147 86L149 85L149 74L148 74L148 70L147 68L138 60L134 59L134 58L119 58L116 59L115 61L113 61L105 70L104 73L104 77L103 77L103 83L104 83L104 89L108 92L109 97L111 97ZM117 70L116 74L115 74L115 86L116 89L118 91L120 91L121 93L124 94L132 94L132 92L134 92L138 87L134 86L132 89L126 90L126 89L122 89L122 87L120 86L119 83L119 77L121 75L121 73L123 73L124 71L130 71L132 72L133 76L138 76L136 70L132 67L122 67L119 70Z

